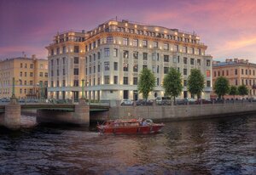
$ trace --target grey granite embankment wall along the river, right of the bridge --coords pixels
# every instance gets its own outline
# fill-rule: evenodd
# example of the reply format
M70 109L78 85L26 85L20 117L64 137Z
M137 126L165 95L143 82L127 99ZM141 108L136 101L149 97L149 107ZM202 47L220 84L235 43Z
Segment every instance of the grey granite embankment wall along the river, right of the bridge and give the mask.
M130 116L128 115L130 113ZM190 105L153 105L117 106L109 110L110 119L150 118L154 121L180 121L201 118L256 114L256 103L237 104L190 104Z

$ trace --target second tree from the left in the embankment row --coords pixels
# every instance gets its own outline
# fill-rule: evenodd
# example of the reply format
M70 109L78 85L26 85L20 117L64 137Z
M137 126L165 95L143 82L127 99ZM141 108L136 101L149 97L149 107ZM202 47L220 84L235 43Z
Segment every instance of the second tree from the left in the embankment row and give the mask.
M164 77L163 88L165 88L165 93L167 96L173 97L174 102L175 98L182 92L182 78L179 71L171 67L168 74Z

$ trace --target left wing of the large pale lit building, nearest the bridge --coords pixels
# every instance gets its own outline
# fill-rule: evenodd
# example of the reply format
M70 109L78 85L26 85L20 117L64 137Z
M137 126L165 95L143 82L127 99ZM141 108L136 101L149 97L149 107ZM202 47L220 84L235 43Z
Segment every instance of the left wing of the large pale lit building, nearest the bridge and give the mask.
M78 100L84 78L85 33L67 31L57 34L49 51L48 97Z

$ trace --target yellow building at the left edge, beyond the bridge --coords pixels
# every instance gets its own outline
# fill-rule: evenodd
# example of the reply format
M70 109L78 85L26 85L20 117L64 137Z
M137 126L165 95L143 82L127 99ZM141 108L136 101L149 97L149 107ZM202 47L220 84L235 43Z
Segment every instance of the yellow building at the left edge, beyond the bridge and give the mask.
M13 84L15 78L15 84ZM48 61L23 57L0 61L0 99L12 96L13 85L15 96L19 99L46 98L48 86Z

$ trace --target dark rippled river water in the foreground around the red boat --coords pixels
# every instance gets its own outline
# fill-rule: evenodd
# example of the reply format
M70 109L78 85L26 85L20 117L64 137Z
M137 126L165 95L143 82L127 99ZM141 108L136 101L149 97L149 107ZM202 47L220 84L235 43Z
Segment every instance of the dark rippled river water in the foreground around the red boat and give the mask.
M166 122L148 135L35 122L0 129L0 174L256 174L256 116Z

